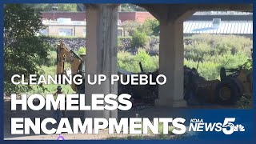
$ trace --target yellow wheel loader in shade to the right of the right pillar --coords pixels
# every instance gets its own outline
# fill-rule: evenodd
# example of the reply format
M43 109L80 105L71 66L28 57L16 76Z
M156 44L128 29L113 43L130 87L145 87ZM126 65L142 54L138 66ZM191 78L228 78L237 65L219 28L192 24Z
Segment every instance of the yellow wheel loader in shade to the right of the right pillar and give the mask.
M227 74L229 73L229 74ZM184 99L190 105L235 104L242 95L252 94L252 74L243 66L220 69L220 81L207 81L196 69L184 70Z

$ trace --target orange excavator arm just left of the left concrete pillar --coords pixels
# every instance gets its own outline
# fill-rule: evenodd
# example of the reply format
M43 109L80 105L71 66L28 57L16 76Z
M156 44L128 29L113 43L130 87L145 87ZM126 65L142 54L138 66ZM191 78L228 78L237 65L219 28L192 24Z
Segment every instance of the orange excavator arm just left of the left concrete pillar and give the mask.
M69 50L63 42L60 42L57 47L57 71L56 74L65 74L64 63L70 62L71 74L78 74L79 66L82 63L82 58L75 54L73 50ZM72 82L71 88L74 91L78 91L77 86Z

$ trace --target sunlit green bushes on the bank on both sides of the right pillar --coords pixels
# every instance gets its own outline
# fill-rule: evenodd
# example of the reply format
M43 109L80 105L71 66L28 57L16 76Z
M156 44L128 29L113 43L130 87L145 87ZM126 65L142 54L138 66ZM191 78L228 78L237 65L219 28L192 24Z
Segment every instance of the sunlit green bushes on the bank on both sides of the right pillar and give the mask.
M136 34L135 34L136 35ZM147 43L137 53L120 52L118 63L121 69L139 72L138 62L142 62L146 71L158 68L158 38L151 37L153 44ZM221 67L238 68L251 58L252 41L249 38L234 35L198 34L185 38L190 43L185 45L184 65L197 67L198 72L208 80L219 79ZM143 50L142 50L143 49ZM156 56L150 57L150 55Z

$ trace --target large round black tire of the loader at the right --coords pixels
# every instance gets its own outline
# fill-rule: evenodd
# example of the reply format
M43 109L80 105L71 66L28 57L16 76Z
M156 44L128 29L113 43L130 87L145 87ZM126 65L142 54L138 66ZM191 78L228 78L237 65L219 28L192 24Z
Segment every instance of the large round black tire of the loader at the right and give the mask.
M234 105L239 95L237 84L230 79L225 79L216 86L216 99L219 104Z

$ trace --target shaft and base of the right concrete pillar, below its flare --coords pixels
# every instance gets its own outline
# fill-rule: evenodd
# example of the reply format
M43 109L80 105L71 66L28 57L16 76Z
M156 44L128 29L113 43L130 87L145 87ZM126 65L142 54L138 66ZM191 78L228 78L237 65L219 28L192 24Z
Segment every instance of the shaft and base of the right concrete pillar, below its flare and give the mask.
M183 22L160 21L159 74L165 74L167 82L159 86L156 106L183 107Z

